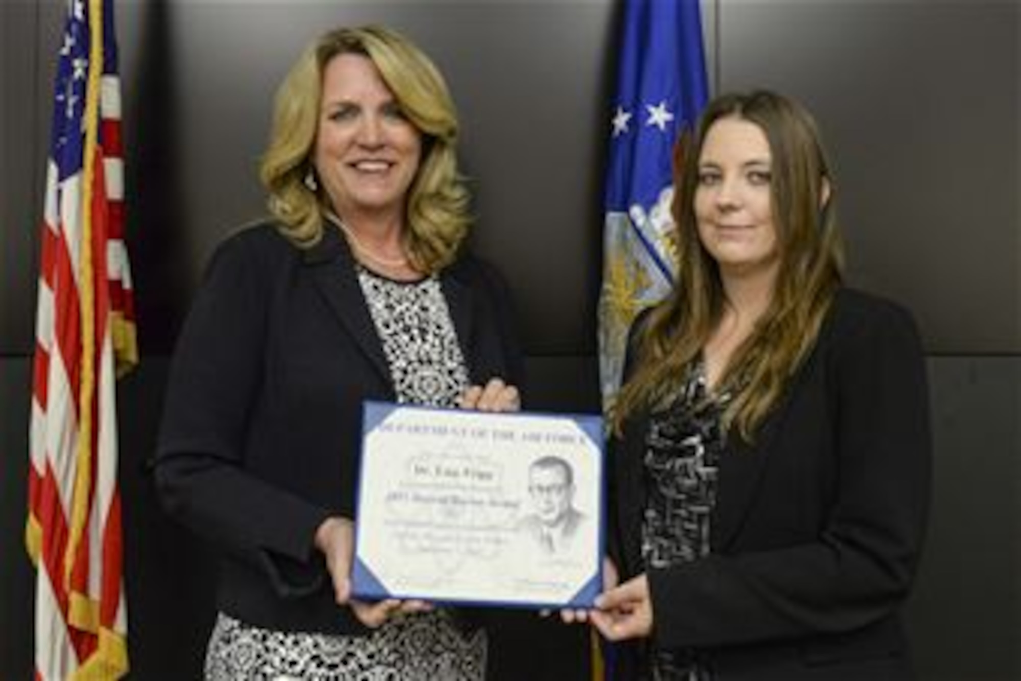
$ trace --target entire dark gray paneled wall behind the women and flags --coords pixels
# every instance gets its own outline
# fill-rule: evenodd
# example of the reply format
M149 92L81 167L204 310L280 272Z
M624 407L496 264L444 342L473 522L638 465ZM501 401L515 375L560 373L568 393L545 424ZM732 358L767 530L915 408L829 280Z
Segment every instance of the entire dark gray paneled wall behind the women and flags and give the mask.
M62 0L0 0L0 678L28 678L25 521L37 223ZM930 353L935 507L909 608L924 681L1021 678L1021 92L1017 3L706 0L716 86L817 114L857 284L917 314ZM207 552L158 511L152 450L173 346L213 245L261 213L270 97L340 22L406 31L447 75L476 181L477 250L518 298L534 403L594 411L601 164L616 0L117 3L143 360L119 392L135 673L196 678ZM509 616L505 678L585 676L577 630ZM525 650L526 637L541 649Z

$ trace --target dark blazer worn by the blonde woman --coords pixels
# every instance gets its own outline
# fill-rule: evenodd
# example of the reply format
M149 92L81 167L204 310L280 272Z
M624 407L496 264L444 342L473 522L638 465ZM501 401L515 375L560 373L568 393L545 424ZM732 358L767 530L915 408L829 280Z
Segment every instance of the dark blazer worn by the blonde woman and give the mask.
M440 275L472 382L520 384L506 289L464 257ZM218 607L283 630L362 632L315 529L353 517L363 400L395 399L347 244L272 224L215 253L179 337L154 459L164 508L225 549Z

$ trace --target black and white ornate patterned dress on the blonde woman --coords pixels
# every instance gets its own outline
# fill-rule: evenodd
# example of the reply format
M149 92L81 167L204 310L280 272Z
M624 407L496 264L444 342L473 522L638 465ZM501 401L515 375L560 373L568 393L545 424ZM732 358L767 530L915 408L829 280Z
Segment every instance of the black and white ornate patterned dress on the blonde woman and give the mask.
M468 369L439 278L395 281L356 268L397 401L453 406L468 385ZM368 636L268 630L221 613L205 678L481 681L485 668L485 632L464 631L443 609L391 619Z

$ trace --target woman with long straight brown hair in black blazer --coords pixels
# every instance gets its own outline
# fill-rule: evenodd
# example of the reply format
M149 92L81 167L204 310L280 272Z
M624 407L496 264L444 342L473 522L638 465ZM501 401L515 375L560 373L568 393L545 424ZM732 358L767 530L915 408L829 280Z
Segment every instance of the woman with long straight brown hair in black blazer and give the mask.
M588 616L628 641L622 679L909 679L931 458L915 325L844 287L795 102L714 100L676 166L678 282L632 330Z

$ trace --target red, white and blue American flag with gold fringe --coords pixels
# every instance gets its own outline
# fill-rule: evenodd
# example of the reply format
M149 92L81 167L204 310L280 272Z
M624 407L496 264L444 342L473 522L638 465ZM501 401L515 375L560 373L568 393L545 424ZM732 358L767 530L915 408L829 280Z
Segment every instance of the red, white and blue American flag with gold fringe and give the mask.
M115 375L138 360L112 0L69 0L41 226L29 521L37 681L128 670Z

